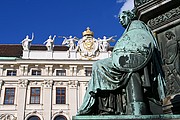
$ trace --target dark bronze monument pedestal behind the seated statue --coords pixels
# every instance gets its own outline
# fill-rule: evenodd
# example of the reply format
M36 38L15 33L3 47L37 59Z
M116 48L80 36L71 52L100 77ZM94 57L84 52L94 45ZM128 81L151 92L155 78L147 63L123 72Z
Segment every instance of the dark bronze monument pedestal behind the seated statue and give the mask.
M146 0L135 0L142 3ZM180 114L180 1L150 0L136 4L138 19L147 23L157 37L163 59L166 93L163 100L164 114Z

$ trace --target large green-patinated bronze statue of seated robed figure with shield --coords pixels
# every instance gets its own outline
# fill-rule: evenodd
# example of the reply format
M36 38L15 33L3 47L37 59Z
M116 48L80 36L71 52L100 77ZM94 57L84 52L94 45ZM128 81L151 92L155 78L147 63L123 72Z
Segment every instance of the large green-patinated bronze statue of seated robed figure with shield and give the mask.
M112 57L93 64L77 115L152 114L149 101L159 103L165 97L156 39L131 11L123 11L119 18L126 30Z

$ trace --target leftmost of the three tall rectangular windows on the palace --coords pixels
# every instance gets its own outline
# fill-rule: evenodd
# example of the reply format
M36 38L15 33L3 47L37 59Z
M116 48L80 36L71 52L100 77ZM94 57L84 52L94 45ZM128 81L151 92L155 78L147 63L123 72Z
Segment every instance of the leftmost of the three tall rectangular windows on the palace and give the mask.
M4 104L5 105L13 105L14 104L14 96L15 96L15 88L6 88L5 96L4 96Z

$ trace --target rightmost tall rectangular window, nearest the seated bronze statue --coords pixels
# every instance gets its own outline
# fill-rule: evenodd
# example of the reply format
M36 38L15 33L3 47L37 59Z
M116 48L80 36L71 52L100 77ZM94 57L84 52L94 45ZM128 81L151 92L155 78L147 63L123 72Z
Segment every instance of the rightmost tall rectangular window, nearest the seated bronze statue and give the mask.
M56 104L66 104L66 88L56 88Z

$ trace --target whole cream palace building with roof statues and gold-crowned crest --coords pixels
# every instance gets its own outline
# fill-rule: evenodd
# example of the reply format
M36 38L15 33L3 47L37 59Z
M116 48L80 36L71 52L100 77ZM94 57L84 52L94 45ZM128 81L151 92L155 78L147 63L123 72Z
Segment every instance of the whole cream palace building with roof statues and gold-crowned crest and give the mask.
M63 37L63 45L0 45L0 119L71 120L86 92L92 64L110 57L113 37Z

